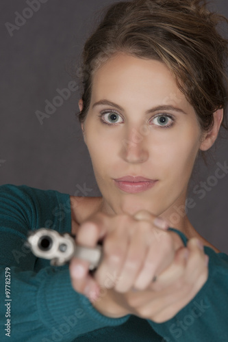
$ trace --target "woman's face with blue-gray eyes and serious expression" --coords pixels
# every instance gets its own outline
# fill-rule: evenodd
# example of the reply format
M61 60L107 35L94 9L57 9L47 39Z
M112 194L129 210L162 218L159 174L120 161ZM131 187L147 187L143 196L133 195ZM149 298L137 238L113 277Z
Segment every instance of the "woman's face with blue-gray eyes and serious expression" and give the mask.
M95 105L99 101L110 104ZM166 217L174 205L184 205L201 129L162 62L125 54L108 60L94 74L82 128L104 212L146 209ZM124 176L155 182L114 181Z

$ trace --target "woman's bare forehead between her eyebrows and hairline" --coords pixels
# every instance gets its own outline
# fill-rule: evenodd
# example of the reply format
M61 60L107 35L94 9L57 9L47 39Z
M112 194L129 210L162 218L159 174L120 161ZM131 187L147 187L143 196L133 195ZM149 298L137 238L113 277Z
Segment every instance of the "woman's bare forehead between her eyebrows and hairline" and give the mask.
M111 98L112 97L112 98ZM168 67L157 60L119 54L107 60L92 82L92 101L128 101L155 105L190 105Z

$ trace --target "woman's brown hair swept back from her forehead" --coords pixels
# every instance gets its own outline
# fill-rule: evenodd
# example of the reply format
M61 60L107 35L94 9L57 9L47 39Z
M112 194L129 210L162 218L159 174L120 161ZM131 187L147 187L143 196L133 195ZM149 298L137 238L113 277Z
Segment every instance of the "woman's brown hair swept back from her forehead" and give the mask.
M213 113L227 105L227 40L218 25L227 18L199 0L133 0L109 5L86 40L81 55L84 122L97 69L118 52L164 62L194 107L201 129L208 131ZM222 126L227 127L224 116Z

